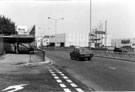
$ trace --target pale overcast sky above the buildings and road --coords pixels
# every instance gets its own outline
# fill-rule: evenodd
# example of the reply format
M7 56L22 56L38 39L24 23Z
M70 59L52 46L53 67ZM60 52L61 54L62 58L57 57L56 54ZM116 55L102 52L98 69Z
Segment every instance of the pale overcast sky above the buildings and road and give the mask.
M0 14L16 25L36 25L37 34L54 34L52 18L58 20L57 33L90 32L90 0L11 0L0 1ZM92 28L108 23L108 34L115 38L135 38L135 0L92 0ZM48 29L50 28L50 29Z

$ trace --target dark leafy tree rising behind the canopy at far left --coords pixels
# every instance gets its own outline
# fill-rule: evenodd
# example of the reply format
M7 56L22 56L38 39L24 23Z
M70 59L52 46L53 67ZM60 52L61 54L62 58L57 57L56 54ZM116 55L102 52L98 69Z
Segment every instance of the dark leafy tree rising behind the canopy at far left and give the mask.
M0 16L0 34L11 35L17 34L15 31L15 23L10 18Z

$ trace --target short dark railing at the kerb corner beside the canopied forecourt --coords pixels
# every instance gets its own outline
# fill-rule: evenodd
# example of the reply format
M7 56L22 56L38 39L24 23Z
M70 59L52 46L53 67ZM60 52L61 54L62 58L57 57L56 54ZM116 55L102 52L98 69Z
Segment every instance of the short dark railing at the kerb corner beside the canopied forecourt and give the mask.
M39 49L30 51L30 63L43 61L45 61L45 51Z

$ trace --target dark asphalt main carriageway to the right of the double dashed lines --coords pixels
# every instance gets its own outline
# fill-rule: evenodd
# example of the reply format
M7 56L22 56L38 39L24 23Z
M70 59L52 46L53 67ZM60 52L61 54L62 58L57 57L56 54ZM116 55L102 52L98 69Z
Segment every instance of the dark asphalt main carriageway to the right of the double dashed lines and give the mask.
M46 56L89 88L97 91L135 91L135 63L93 57L92 61L71 60L68 51L46 51Z

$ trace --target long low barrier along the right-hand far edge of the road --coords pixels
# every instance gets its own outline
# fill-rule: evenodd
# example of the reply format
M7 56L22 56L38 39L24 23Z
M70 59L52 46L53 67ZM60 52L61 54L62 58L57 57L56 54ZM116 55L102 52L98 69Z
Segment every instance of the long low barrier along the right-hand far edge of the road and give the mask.
M135 53L113 52L113 51L97 51L97 50L92 50L92 51L93 51L94 56L128 60L128 61L135 62Z

